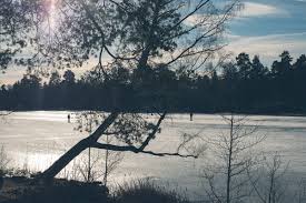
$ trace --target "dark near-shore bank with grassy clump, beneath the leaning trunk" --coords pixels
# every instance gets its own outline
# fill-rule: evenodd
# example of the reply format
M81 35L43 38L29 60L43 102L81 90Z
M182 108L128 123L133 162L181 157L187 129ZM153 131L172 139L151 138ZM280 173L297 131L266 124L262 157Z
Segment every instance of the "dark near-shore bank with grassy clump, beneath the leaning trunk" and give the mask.
M55 180L46 185L33 179L19 179L22 189L11 191L18 200L0 200L1 203L190 203L177 192L148 180L124 184L110 197L106 186L95 183Z

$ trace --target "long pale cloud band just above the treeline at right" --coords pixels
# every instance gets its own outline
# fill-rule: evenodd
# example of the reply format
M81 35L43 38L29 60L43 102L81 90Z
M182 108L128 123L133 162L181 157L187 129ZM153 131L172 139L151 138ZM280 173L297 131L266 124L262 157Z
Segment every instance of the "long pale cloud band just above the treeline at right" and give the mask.
M288 34L269 34L263 37L239 37L229 35L229 45L226 48L235 55L240 52L249 53L250 55L259 54L261 61L270 65L278 55L288 50L295 58L305 53L306 32L288 33Z

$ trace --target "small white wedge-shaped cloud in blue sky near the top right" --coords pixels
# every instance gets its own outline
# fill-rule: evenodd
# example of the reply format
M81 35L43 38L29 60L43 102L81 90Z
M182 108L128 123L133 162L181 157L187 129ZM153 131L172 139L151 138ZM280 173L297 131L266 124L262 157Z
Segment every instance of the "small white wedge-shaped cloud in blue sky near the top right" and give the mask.
M263 3L245 2L238 17L266 17L288 14L285 10Z

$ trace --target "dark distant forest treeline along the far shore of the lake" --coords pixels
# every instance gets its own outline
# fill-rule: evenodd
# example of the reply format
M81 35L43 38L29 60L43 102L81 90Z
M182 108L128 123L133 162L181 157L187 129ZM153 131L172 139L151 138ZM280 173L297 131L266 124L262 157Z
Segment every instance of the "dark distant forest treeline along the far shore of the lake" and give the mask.
M0 109L306 113L306 55L293 61L284 51L279 57L267 68L259 57L240 53L206 74L115 64L107 77L97 68L79 80L71 70L62 77L55 71L42 83L27 73L1 87Z

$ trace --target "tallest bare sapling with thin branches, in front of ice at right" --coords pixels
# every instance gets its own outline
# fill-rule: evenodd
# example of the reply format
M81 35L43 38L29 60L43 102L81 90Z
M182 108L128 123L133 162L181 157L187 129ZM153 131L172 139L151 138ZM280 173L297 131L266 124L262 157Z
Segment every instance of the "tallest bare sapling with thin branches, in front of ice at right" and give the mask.
M253 148L265 136L256 134L257 126L247 125L246 116L223 115L228 132L209 138L211 160L203 170L206 193L211 202L241 202L250 196L247 172L255 164ZM215 160L215 161L214 161Z

